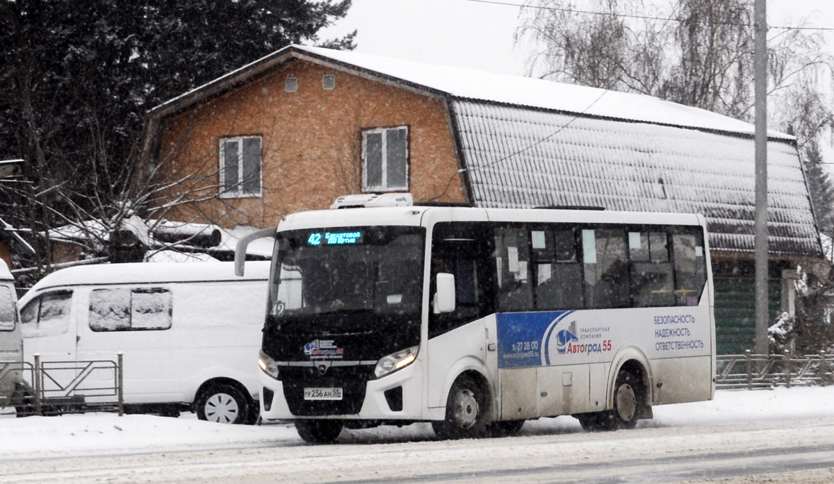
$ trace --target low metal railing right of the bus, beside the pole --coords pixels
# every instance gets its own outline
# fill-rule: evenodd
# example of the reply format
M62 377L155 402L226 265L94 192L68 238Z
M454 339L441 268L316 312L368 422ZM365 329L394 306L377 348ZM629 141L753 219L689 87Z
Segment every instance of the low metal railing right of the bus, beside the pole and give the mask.
M743 355L716 357L716 388L720 390L772 387L811 387L834 384L834 354Z

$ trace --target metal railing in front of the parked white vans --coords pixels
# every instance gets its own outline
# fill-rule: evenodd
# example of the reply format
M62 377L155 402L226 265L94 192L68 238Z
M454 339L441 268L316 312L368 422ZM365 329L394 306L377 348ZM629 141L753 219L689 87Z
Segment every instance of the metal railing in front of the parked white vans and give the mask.
M116 361L43 362L35 355L34 363L0 362L0 377L13 377L14 372L22 372L23 380L31 383L31 388L0 399L0 407L15 407L18 415L81 412L123 415L122 353L118 353Z

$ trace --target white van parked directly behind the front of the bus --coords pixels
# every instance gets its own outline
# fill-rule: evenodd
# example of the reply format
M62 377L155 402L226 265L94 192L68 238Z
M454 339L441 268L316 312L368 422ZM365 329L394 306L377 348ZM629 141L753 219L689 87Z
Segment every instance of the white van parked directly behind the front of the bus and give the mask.
M20 300L24 358L116 361L121 352L128 412L175 416L192 409L203 420L254 423L269 262L251 267L244 278L234 276L231 262L53 272ZM113 372L88 378L113 382ZM94 383L73 397L95 402L83 389Z

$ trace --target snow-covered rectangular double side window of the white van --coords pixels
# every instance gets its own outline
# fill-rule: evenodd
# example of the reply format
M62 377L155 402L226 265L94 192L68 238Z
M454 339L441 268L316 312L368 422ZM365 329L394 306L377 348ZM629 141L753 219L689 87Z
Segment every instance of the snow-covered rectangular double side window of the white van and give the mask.
M96 332L168 329L171 292L162 287L93 289L89 325Z

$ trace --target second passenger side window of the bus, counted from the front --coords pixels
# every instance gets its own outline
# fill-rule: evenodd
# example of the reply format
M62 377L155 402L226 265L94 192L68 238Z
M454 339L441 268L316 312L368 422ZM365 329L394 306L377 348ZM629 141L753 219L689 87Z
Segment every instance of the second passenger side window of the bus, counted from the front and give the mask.
M535 259L535 308L582 307L582 268L576 257L574 232L534 230L530 241Z

